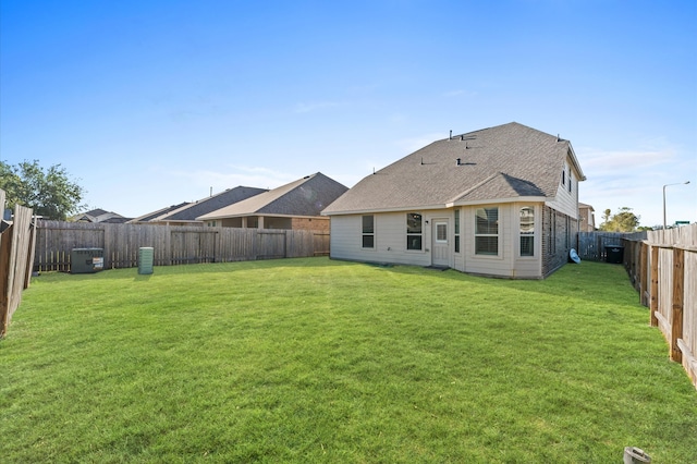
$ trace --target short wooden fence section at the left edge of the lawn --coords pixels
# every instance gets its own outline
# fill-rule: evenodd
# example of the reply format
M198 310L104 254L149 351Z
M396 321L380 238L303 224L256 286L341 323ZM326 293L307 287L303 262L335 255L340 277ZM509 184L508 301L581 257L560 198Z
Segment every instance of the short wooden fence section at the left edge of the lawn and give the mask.
M0 190L0 210L4 210L4 195ZM29 286L35 239L32 213L17 205L12 222L0 228L0 338L20 306L22 291Z

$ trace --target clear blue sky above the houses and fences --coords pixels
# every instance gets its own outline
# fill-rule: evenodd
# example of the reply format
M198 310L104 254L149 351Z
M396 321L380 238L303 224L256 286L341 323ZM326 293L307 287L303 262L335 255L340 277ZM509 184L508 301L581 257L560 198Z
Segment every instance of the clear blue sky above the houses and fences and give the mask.
M236 185L363 176L516 121L580 200L697 221L697 2L0 0L0 158L135 217Z

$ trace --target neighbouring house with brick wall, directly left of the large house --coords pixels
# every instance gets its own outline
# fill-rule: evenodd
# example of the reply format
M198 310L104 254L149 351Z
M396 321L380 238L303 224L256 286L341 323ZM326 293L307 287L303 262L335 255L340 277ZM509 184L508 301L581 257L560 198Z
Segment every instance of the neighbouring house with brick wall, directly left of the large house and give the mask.
M321 210L348 188L321 172L199 216L211 227L329 232Z

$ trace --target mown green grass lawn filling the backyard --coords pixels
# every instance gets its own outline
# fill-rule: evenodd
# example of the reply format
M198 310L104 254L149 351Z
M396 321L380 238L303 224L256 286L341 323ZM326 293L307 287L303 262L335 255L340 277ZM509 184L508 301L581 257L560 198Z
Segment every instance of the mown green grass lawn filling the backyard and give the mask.
M35 278L2 462L697 462L697 392L621 266L326 258Z

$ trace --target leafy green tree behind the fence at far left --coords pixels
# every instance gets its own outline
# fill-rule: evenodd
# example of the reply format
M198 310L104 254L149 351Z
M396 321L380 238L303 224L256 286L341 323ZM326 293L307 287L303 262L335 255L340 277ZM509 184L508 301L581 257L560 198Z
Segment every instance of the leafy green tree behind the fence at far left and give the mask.
M37 160L15 166L0 161L0 188L8 205L26 206L46 219L65 220L85 207L80 204L85 191L71 181L61 164L45 170Z

